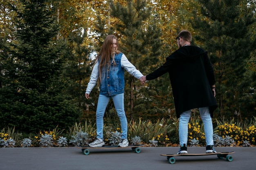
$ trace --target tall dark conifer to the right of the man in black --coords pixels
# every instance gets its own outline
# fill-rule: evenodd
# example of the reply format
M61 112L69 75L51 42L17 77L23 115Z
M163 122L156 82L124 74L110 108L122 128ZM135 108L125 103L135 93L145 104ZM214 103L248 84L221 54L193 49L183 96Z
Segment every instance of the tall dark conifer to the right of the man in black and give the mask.
M245 108L244 96L254 81L244 79L250 53L255 50L255 5L248 0L199 0L202 16L194 13L197 37L209 54L216 73L216 99L219 116L247 117L255 110ZM253 30L253 29L254 30ZM250 85L249 85L250 84ZM248 86L249 85L249 86Z

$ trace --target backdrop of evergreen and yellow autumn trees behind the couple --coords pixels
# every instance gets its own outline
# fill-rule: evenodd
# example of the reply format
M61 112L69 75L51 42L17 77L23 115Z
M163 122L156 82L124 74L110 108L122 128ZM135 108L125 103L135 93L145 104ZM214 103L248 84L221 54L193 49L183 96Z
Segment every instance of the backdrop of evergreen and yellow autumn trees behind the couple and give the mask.
M93 64L88 57L99 51L106 35L115 34L121 51L141 73L148 74L177 49L175 36L181 29L192 32L192 44L207 50L213 63L220 106L214 117L220 120L225 115L234 118L236 126L248 128L256 109L256 8L252 0L230 2L3 1L0 129L35 133L94 119L99 91L94 88L90 99L84 97ZM90 24L92 20L96 25ZM168 74L147 82L145 88L130 75L125 77L130 119L175 117ZM114 113L113 106L106 112ZM168 136L177 139L177 133Z

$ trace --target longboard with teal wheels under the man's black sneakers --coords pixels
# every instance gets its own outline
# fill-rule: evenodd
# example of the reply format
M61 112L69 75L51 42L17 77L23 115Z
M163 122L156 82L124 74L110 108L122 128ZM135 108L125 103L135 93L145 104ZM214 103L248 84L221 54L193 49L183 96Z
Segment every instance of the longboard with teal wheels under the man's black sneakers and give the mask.
M169 161L169 163L173 164L175 163L175 158L174 157L188 157L188 156L205 156L205 155L217 155L218 158L222 159L222 158L226 158L227 161L232 161L233 157L230 156L229 154L232 154L235 152L217 152L217 153L183 153L183 154L179 154L179 155L164 155L161 154L161 156L166 156L167 160Z

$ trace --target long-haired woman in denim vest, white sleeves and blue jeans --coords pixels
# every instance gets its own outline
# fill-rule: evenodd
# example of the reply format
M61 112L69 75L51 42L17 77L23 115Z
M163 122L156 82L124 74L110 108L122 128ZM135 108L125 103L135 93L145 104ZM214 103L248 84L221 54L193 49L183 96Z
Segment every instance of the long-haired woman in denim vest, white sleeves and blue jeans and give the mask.
M120 147L128 146L127 119L124 111L124 69L130 75L139 79L143 75L132 65L126 56L119 51L115 35L108 35L96 57L90 82L87 85L85 97L88 99L97 79L100 80L100 93L96 110L97 139L89 144L90 147L104 146L103 116L110 98L113 99L117 115L121 122Z

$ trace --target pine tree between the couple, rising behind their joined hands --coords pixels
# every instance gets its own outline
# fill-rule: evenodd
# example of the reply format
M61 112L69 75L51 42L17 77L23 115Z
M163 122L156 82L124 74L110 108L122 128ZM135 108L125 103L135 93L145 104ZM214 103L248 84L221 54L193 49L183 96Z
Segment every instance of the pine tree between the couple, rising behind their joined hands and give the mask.
M110 7L110 14L118 19L113 23L114 26L111 29L121 40L121 51L125 53L132 64L144 73L157 62L162 45L159 39L161 30L152 24L154 18L151 17L151 8L144 0L127 0L124 4L112 3ZM130 104L130 109L127 110L132 119L134 102L139 95L139 81L135 82L134 77L126 75L126 82L129 84L129 87L126 88L126 92L129 94L127 103Z

